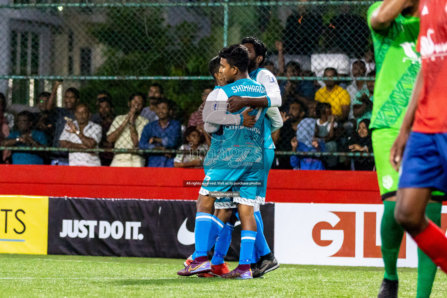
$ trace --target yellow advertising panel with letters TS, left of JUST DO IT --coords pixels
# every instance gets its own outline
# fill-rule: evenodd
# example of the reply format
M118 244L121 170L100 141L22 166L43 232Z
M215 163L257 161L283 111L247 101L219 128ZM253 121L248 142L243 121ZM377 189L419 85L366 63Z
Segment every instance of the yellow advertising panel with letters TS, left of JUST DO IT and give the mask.
M0 196L0 253L46 255L48 197Z

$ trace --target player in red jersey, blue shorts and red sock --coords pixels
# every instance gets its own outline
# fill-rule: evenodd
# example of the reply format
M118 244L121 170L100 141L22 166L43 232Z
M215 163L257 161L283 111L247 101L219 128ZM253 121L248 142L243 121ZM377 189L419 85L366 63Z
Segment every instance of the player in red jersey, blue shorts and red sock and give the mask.
M419 11L422 67L390 155L401 165L394 216L447 273L447 238L425 217L431 191L447 192L447 0L421 0Z

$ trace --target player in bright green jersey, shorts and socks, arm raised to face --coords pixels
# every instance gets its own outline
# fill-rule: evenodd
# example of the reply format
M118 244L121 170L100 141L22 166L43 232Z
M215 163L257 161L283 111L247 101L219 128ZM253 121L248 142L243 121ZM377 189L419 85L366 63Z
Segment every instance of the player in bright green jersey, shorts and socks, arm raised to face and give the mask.
M420 68L416 52L419 34L418 0L384 0L372 4L367 19L374 43L376 80L370 128L380 194L384 202L380 234L385 274L378 298L397 298L397 257L404 230L394 219L399 175L389 162L390 150L399 134L413 84ZM443 194L439 193L442 198ZM435 198L435 197L434 197ZM428 204L426 215L441 223L441 203ZM420 249L417 298L429 298L437 266Z

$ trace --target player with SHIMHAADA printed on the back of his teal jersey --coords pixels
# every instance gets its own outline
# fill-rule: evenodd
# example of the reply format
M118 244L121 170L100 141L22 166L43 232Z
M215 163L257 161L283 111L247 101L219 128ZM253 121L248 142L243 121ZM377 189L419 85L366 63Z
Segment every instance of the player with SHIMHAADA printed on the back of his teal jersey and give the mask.
M211 103L216 113L219 113L217 109L219 102L227 101L229 95L265 97L265 88L249 79L247 72L249 54L247 48L241 45L233 45L221 50L219 56L221 58L219 72L222 72L228 85L219 89L217 101ZM206 109L206 106L207 104L205 104L204 109ZM250 110L249 114L256 118L256 123L253 127L240 125L244 122L244 117L241 113L245 110ZM196 257L191 264L177 272L177 274L190 276L211 271L211 263L207 258L207 246L211 222L214 220L211 212L215 197L207 194L209 191L227 191L232 188L233 191L240 193L240 197L233 197L233 201L238 203L238 213L242 227L240 260L236 269L223 274L222 277L253 278L250 262L257 235L257 224L253 212L253 206L257 200L257 188L250 187L249 184L258 181L260 178L259 168L262 167L263 119L265 113L266 108L249 109L249 107L243 107L238 111L228 113L224 117L224 120L225 118L234 118L235 121L239 121L239 125L225 125L223 128L224 139L222 148L214 160L214 163L219 168L213 167L208 170L198 197L195 227ZM222 183L228 180L242 184ZM213 184L213 181L218 183ZM223 224L223 222L220 223Z

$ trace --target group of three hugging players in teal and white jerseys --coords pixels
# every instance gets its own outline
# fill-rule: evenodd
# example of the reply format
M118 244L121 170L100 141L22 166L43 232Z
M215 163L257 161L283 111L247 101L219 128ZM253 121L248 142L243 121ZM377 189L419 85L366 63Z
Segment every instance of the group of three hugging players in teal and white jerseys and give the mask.
M274 158L271 132L283 126L278 83L270 71L260 68L265 58L266 46L257 38L245 38L242 45L221 50L208 65L216 88L205 101L202 115L212 140L197 200L195 252L184 263L185 269L177 272L181 276L249 279L279 267L264 237L259 212ZM236 181L242 184L233 185ZM261 185L249 185L255 181ZM239 197L210 194L226 191L238 192ZM229 272L223 256L236 218L242 227L240 259ZM213 246L210 262L207 252Z

